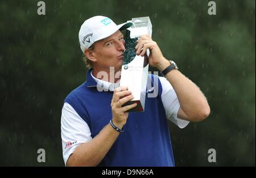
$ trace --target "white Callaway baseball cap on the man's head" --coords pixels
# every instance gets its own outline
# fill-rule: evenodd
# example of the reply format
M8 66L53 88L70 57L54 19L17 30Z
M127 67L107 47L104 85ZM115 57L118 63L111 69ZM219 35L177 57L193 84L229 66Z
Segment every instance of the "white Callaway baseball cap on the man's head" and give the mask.
M119 30L133 26L133 23L126 22L115 24L106 16L93 16L85 20L79 31L79 42L82 53L88 49L94 42L105 39Z

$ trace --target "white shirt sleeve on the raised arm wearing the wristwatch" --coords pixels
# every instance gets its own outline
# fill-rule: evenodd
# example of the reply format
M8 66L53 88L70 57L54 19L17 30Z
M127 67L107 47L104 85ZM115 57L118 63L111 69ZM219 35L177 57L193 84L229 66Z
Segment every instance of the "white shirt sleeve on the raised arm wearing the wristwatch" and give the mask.
M183 120L177 117L177 112L180 108L179 100L177 99L176 92L171 86L171 83L164 77L159 77L162 85L162 102L166 111L166 117L168 120L174 122L179 128L185 128L189 124L189 121Z

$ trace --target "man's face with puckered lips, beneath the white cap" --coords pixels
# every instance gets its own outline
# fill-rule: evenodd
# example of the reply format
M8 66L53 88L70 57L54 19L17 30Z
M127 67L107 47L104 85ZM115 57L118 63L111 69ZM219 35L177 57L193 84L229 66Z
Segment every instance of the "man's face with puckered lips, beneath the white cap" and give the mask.
M115 71L121 70L125 41L123 34L118 30L106 39L97 41L94 44L94 55L96 65L100 67L115 67Z

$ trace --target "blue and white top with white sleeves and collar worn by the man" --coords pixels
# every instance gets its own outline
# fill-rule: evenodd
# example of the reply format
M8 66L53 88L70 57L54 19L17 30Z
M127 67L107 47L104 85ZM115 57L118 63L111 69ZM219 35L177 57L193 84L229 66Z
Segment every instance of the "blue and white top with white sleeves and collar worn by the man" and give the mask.
M88 70L86 82L64 100L61 115L63 159L67 163L75 149L90 142L112 119L110 103L119 83L99 80ZM106 90L97 90L97 82ZM101 85L100 85L101 86ZM157 92L151 97L152 92ZM144 112L129 113L125 132L98 166L175 166L167 119L184 128L189 121L177 118L179 100L164 77L148 75Z

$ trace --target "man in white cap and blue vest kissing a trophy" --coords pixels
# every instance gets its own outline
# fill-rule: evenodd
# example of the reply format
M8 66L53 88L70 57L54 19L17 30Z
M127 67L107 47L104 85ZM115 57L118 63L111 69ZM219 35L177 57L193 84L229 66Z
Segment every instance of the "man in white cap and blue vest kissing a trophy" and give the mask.
M175 166L167 119L184 128L210 113L196 84L163 57L148 35L137 41L137 55L149 49L148 63L166 78L149 75L147 91L154 88L158 95L150 98L147 93L144 112L126 112L136 106L122 107L133 95L119 86L119 78L110 81L110 76L121 70L125 41L120 31L131 25L117 26L105 16L94 16L80 28L81 50L92 68L86 82L64 101L61 138L66 166ZM108 78L102 79L102 71Z

